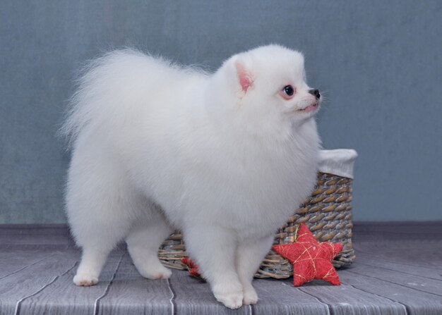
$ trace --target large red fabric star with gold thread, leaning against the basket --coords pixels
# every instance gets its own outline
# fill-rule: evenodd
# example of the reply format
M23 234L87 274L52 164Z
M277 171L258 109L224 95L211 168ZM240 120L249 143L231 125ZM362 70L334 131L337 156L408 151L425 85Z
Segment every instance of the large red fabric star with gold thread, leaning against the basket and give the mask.
M342 245L318 242L305 224L299 226L296 242L273 245L272 249L293 264L293 285L295 287L313 279L325 280L332 285L340 285L338 273L331 261L342 250Z

